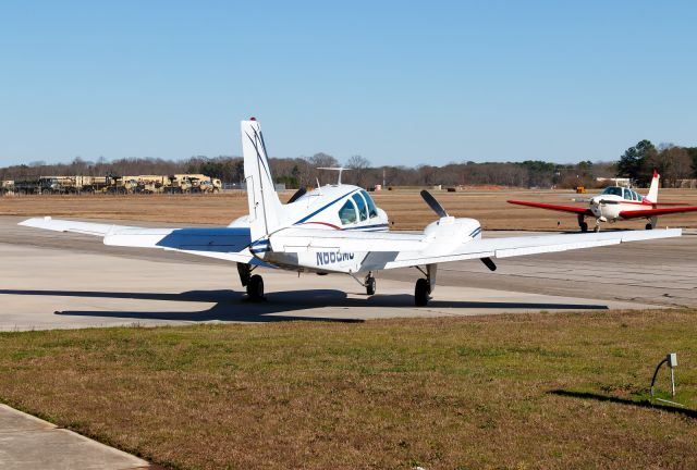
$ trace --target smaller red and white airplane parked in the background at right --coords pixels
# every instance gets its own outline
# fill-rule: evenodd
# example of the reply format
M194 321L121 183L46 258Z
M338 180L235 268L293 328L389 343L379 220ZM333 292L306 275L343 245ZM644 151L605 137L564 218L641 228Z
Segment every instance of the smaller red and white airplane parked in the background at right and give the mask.
M574 206L557 206L541 202L526 202L509 200L509 203L529 206L540 209L555 210L561 212L575 213L578 217L578 226L582 232L588 232L586 218L596 219L594 232L600 230L600 222L616 222L619 220L647 219L646 230L655 228L658 224L658 217L697 211L697 206L686 206L685 202L658 202L658 187L660 175L653 171L653 178L649 187L649 194L641 196L637 191L620 187L609 186L598 196L591 197L588 208ZM673 206L659 208L659 206Z

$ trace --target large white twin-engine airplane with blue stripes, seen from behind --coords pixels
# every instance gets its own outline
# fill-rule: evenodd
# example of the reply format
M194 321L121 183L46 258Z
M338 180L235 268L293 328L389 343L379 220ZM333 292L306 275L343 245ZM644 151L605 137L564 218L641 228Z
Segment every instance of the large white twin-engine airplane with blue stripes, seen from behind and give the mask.
M394 233L389 231L384 211L357 186L339 183L309 193L301 190L282 205L274 190L259 123L254 119L242 122L242 150L249 214L227 227L142 228L50 218L29 219L21 225L98 235L105 245L162 248L234 261L250 299L264 297L264 281L253 274L258 267L348 274L368 295L376 292L376 271L413 267L424 275L414 292L417 306L428 302L442 262L478 259L493 271L492 258L682 234L680 228L673 228L482 239L477 220L449 215L427 191L421 196L439 219L419 234Z

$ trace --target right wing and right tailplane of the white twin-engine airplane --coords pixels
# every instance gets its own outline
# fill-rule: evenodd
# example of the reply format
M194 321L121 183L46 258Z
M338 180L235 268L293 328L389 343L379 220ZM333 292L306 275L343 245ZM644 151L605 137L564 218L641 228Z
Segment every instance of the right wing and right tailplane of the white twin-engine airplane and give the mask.
M505 238L475 238L395 234L390 232L346 232L285 228L269 237L271 249L281 252L368 252L365 270L405 268L480 258L566 251L617 245L626 242L676 237L682 230L623 231L584 234L540 235Z

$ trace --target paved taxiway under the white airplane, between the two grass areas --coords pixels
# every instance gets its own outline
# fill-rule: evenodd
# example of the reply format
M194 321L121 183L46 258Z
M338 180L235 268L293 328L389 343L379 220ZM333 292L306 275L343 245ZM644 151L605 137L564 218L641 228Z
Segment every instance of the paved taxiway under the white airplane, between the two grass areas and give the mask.
M232 263L107 247L96 237L17 226L21 220L0 218L2 331L697 306L694 231L504 259L496 272L478 261L443 264L433 299L416 308L413 269L380 272L370 297L348 276L265 270L267 300L249 302ZM519 233L485 237L512 235Z

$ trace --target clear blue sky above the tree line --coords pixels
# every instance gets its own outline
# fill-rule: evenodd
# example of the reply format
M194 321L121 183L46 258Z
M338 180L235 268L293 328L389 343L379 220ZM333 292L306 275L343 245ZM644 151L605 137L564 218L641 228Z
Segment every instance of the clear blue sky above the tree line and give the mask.
M0 2L0 164L613 160L697 145L693 1Z

